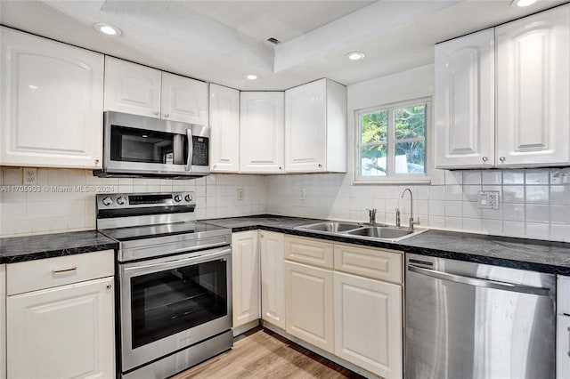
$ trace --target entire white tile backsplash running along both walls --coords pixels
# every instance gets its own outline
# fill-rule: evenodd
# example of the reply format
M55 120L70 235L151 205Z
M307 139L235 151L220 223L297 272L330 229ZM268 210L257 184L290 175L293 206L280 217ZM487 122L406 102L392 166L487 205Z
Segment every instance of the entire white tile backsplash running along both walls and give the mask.
M445 171L431 185L354 185L346 173L305 175L212 174L195 180L101 179L91 171L37 170L37 192L10 191L21 185L22 169L2 167L0 236L95 229L99 191L196 193L197 218L281 214L405 225L413 191L420 227L570 242L570 168ZM244 199L237 199L237 190ZM499 209L479 209L480 190L499 192ZM299 196L300 194L305 195Z

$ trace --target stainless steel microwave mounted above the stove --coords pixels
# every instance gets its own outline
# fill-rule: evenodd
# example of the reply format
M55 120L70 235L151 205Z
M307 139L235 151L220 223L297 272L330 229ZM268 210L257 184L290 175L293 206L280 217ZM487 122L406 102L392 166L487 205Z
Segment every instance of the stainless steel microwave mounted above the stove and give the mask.
M102 177L208 175L210 128L120 112L103 113Z

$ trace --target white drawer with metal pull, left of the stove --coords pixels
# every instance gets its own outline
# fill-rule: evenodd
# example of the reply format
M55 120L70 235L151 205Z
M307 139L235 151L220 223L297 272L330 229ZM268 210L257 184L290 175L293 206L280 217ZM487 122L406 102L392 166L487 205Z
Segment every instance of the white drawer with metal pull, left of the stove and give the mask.
M66 255L37 261L11 263L6 267L6 292L21 294L114 275L113 250Z

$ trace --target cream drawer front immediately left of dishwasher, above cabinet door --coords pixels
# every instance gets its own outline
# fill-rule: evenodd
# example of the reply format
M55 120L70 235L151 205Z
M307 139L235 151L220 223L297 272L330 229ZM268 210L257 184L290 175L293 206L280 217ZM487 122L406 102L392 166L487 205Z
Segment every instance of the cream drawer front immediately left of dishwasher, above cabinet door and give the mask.
M402 283L402 255L394 250L335 245L335 270Z

